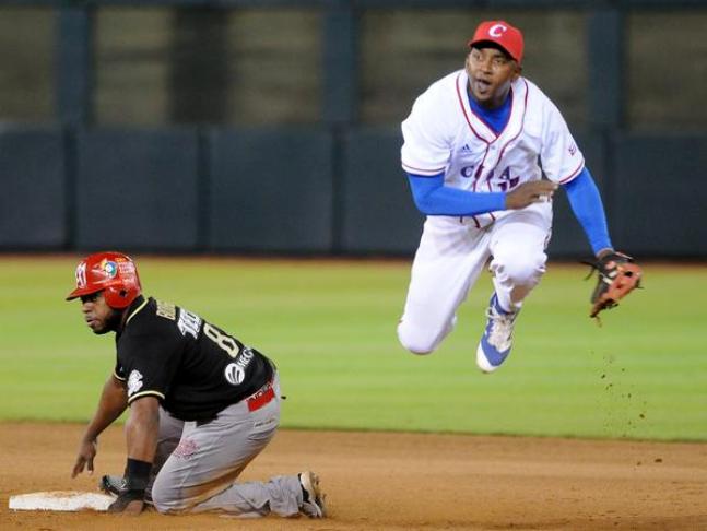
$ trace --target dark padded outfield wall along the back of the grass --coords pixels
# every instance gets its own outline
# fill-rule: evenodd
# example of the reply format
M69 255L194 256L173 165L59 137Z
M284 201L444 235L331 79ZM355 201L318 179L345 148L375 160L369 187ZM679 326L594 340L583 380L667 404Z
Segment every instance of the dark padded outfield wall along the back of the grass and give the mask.
M707 135L578 135L615 245L707 256ZM334 172L322 130L0 132L0 247L178 252L409 253L422 216L394 130L349 131ZM660 176L660 179L656 177ZM564 193L553 256L587 252Z

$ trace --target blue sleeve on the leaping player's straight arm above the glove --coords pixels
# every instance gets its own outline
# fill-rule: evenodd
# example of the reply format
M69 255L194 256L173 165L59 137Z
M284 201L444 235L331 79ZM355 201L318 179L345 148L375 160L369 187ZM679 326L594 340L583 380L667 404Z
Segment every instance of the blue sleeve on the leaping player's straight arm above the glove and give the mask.
M573 180L563 185L575 217L585 229L594 255L601 249L612 248L606 227L606 215L601 202L597 184L589 169L585 169Z

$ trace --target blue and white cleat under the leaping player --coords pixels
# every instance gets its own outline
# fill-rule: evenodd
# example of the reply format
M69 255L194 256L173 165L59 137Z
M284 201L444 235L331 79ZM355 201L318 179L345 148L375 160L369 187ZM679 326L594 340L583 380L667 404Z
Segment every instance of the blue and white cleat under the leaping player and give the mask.
M504 310L498 306L498 297L494 293L488 302L486 317L486 330L476 349L476 365L484 373L493 373L510 354L518 311Z

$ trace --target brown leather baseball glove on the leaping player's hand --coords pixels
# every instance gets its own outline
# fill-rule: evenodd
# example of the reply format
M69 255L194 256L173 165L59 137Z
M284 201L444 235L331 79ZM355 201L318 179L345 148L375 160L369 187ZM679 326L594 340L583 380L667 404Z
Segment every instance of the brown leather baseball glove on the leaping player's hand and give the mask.
M589 317L599 320L601 311L617 306L618 300L639 287L643 271L634 263L633 258L615 251L590 262L590 266L593 268L592 272L598 271L599 279L591 294Z

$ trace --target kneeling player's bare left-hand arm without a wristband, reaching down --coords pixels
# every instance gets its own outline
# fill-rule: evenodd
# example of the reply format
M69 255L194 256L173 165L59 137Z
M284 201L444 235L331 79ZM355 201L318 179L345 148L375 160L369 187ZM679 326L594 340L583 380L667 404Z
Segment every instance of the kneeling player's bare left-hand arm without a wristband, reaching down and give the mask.
M79 456L73 465L71 477L75 477L87 467L93 473L93 459L96 456L98 435L103 433L128 406L128 393L125 384L110 375L103 386L98 409L89 423L79 445Z

